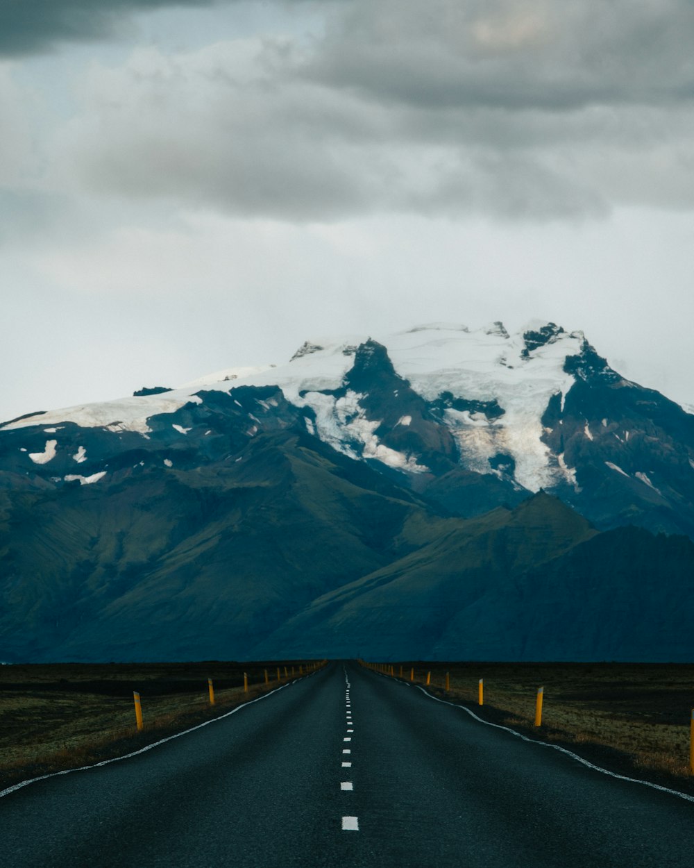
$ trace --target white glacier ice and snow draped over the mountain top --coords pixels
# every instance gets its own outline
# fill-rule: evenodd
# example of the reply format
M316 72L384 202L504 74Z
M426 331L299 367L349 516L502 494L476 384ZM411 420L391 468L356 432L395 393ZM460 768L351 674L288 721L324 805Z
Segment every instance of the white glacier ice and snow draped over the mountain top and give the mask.
M317 436L333 448L391 468L425 472L428 468L415 455L381 442L376 434L381 422L363 411L363 396L349 390L340 394L354 365L357 347L368 340L350 335L337 340L306 341L285 365L229 368L172 391L49 411L3 427L11 430L72 422L109 431L135 431L147 437L152 418L179 411L190 402L200 404L204 400L201 391L228 393L241 385L277 385L287 401L311 411L315 422L307 420L307 427L311 430L315 426ZM501 408L494 418L482 411L455 407L442 412L442 422L470 470L499 475L490 459L504 455L514 461L514 484L527 490L551 486L558 474L573 481L571 468L563 458L558 463L543 442L542 418L553 396L559 396L563 406L575 381L574 375L566 372L565 363L567 357L578 356L585 345L582 332L565 332L539 320L514 335L501 322L477 330L435 323L376 336L375 340L385 346L396 375L408 381L425 401L435 402L445 393L454 399ZM253 424L249 425L248 436L253 436L258 431L258 420L249 416ZM399 424L405 424L403 419ZM180 424L173 424L173 428L181 434L190 430ZM57 440L49 443L54 444L50 449L55 449ZM55 453L48 444L46 449L45 457L34 453L32 460L49 461Z

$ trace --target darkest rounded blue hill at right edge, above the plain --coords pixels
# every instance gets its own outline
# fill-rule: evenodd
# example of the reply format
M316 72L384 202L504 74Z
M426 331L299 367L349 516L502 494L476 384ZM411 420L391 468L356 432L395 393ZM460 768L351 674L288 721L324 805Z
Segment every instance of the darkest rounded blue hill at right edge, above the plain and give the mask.
M516 606L519 659L691 661L694 543L608 530L530 569Z

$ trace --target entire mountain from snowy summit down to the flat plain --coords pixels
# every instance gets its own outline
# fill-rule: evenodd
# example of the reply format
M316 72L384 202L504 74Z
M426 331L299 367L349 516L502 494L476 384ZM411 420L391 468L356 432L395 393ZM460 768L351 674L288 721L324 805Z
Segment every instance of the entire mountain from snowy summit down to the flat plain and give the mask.
M0 659L687 660L692 538L694 416L581 332L307 342L0 426Z

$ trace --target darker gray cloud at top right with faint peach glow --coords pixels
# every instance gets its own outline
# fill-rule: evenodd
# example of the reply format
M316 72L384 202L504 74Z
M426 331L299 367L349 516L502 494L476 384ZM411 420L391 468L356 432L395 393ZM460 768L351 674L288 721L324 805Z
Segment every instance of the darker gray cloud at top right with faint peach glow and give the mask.
M691 102L689 0L351 3L304 75L378 102L572 111Z

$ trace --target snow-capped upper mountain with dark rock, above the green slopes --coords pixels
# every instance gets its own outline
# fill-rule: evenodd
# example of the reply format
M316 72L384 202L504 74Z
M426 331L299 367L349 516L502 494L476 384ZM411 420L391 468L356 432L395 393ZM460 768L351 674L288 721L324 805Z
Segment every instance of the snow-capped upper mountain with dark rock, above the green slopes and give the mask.
M9 444L12 435L12 467L29 477L74 479L79 456L80 482L105 485L130 460L115 461L113 450L129 450L131 470L152 460L175 472L184 455L241 460L243 444L287 427L416 490L439 480L437 496L463 513L474 511L464 503L474 480L487 506L545 489L573 505L593 498L586 515L599 516L613 511L614 496L630 520L633 504L644 503L689 527L682 504L694 501L694 416L622 378L583 332L541 320L515 333L497 321L314 337L285 364L27 416L0 427L0 437Z

